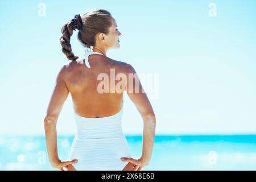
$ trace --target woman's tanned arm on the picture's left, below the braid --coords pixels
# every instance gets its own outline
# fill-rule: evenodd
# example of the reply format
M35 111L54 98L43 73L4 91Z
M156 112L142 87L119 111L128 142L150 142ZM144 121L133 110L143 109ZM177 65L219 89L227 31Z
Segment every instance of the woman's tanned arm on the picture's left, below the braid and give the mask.
M57 164L59 164L60 162L59 156L57 154L56 123L63 104L69 94L69 91L64 81L64 71L65 66L61 68L59 74L57 75L56 85L52 93L51 101L49 102L47 115L44 118L47 152L49 162L53 167L57 167Z

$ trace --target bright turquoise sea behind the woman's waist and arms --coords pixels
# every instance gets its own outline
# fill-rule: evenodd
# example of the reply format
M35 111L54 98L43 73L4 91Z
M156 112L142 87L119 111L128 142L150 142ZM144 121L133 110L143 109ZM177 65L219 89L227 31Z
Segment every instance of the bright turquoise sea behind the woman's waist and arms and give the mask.
M68 159L74 136L57 138L61 160ZM126 135L133 158L142 136ZM41 137L0 137L0 170L58 170L48 162ZM256 170L256 135L156 135L150 164L142 170Z

